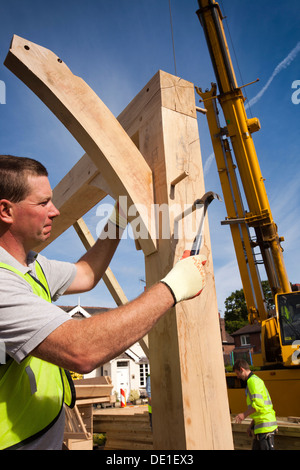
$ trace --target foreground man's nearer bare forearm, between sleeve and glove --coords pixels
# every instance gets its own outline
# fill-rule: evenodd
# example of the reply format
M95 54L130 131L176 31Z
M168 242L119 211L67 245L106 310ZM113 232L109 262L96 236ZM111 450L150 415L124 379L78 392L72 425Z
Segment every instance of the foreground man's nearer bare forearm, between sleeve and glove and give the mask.
M31 355L89 373L145 336L173 304L169 288L158 283L122 307L63 323Z

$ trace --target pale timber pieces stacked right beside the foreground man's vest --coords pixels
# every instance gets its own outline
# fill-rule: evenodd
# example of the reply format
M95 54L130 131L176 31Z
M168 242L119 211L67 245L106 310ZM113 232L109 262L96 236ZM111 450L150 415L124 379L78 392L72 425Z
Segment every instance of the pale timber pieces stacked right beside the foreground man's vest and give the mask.
M75 380L76 405L66 407L64 445L69 450L93 449L93 405L112 405L113 385L110 377Z

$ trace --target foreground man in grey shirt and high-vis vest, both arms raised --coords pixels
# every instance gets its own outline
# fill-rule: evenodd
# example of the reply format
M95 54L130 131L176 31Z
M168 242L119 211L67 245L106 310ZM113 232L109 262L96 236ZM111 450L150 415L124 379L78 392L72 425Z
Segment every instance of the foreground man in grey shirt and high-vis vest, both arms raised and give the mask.
M105 273L127 225L118 204L101 237L76 263L33 252L59 211L46 168L0 155L0 450L61 449L64 405L74 405L68 370L86 374L145 336L177 302L205 286L201 255L177 262L140 297L101 315L70 318L52 302L86 292Z

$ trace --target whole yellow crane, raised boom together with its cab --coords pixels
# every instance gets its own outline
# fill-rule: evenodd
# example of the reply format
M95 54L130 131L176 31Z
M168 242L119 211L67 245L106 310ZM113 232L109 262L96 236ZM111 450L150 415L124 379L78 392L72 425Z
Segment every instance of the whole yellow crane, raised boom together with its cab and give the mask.
M282 375L280 369L284 369L282 380L293 380L299 397L300 292L292 290L288 279L281 247L284 239L277 233L252 138L252 134L260 129L260 123L257 118L247 117L243 87L237 84L219 4L214 0L198 0L198 4L197 15L217 83L213 83L210 90L203 92L196 87L196 91L207 110L227 211L226 220L222 223L228 224L231 230L249 323L261 324L262 354L260 360L256 358L256 365L262 370L273 371L276 379ZM223 126L219 107L223 112ZM245 204L248 205L247 210ZM276 311L273 313L267 310L257 250L274 296ZM299 416L300 405L297 406Z

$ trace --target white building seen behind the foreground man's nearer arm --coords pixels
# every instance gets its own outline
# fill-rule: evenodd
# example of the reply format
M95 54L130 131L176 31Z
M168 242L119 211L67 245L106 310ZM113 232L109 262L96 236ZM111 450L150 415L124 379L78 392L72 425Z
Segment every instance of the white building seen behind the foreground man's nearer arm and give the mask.
M62 306L60 308L75 318L88 318L108 310L101 307L81 307L80 304L76 307ZM90 374L84 375L84 378L109 376L114 386L113 393L116 392L118 399L120 399L120 390L123 389L128 400L132 390L138 390L141 397L146 397L146 379L149 373L149 360L139 343L135 343L120 356L95 369Z

